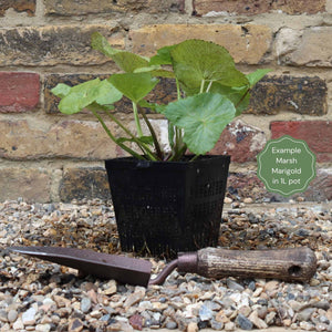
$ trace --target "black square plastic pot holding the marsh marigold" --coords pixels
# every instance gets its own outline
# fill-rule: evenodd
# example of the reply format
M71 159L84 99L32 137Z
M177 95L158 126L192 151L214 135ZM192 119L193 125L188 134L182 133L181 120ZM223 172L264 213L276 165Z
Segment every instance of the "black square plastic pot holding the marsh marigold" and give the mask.
M217 246L229 163L106 160L122 250L174 257Z

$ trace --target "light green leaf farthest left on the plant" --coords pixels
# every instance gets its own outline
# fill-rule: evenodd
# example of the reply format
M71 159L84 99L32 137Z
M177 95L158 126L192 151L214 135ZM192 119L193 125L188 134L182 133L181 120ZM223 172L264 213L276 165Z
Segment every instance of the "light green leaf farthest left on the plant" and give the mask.
M64 114L74 114L86 108L89 105L97 103L100 105L111 105L122 98L122 93L106 80L95 79L73 87L60 83L52 93L62 97L59 110Z

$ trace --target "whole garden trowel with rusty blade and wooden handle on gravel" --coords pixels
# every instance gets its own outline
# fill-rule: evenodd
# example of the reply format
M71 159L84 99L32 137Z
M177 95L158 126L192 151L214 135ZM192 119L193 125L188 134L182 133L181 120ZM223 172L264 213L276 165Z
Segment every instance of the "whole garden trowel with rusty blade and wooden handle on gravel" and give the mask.
M179 253L154 279L151 279L153 264L145 259L62 247L9 247L9 250L71 267L85 276L144 287L163 283L176 268L178 272L191 272L212 279L240 277L286 281L309 281L317 269L315 255L307 247L276 250L205 248Z

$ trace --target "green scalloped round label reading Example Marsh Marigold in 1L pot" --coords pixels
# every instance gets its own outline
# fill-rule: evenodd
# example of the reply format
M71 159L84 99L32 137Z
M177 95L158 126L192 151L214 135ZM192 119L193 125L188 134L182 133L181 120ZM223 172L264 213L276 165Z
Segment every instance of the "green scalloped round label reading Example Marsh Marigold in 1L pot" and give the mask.
M270 139L258 155L257 176L271 193L302 193L315 177L315 155L307 143L284 135Z

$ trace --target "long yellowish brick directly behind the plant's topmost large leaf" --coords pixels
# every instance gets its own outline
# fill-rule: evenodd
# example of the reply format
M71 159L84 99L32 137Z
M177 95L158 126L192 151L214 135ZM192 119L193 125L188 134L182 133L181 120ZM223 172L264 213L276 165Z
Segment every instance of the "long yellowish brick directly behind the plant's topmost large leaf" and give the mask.
M133 51L152 55L162 46L187 39L204 39L225 46L237 63L259 63L270 48L272 34L266 25L155 24L129 32Z

